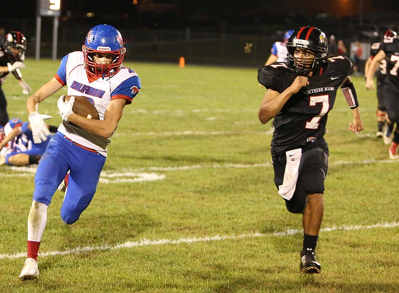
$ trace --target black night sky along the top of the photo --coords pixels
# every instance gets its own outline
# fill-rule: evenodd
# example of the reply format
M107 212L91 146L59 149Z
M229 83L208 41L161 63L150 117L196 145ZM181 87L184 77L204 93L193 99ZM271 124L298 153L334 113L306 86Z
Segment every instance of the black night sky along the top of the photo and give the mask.
M307 17L317 13L340 16L359 14L363 3L366 22L370 15L397 13L399 0L61 0L60 21L112 22L131 28L173 28L193 25L211 26L278 23L282 18ZM93 12L92 19L87 13ZM24 1L15 9L0 9L0 21L5 18L34 18L36 0ZM370 17L369 17L370 16ZM368 18L369 17L369 18ZM375 19L371 20L376 21ZM0 23L1 25L1 23Z

